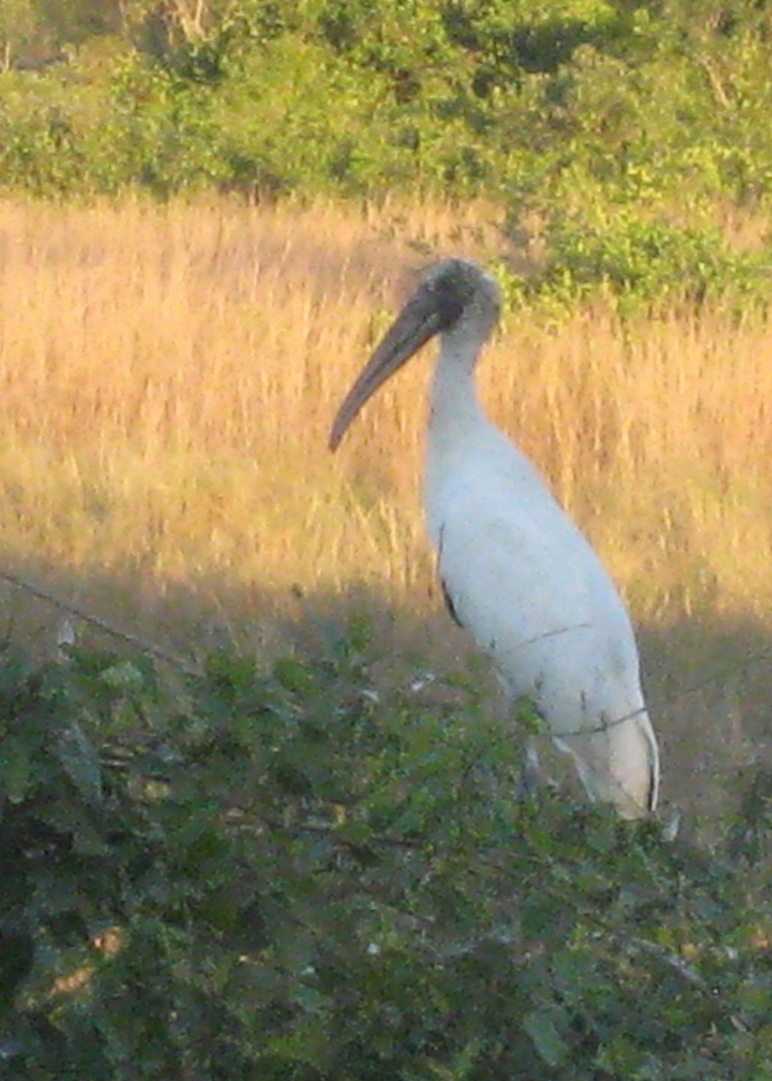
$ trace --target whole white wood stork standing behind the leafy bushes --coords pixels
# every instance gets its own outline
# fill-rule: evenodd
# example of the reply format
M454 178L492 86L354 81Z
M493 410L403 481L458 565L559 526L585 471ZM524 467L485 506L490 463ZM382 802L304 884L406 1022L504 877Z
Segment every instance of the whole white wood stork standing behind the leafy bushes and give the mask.
M589 798L640 817L656 805L660 761L629 616L589 543L477 398L475 366L500 308L496 282L476 263L432 266L343 402L330 448L439 334L425 511L451 615L513 698L533 699Z

